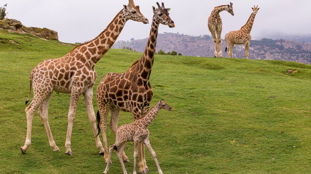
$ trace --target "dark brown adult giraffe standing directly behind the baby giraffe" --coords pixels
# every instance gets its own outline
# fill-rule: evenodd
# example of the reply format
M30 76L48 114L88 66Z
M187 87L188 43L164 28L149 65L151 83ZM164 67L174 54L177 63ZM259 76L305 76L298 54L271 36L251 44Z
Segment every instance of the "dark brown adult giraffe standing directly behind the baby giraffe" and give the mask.
M111 119L109 128L115 134L118 127L118 119L121 111L132 112L133 119L144 115L150 106L150 101L153 96L153 91L149 83L149 77L154 60L156 50L156 39L158 34L159 24L168 25L170 28L175 27L174 21L169 17L169 8L162 7L157 2L158 8L152 7L153 19L149 40L146 49L141 59L132 64L126 72L123 73L108 73L100 81L97 87L96 99L99 111L97 117L101 117L99 133L102 131L104 141L104 150L107 154L107 138L106 138L106 124L108 111L111 111ZM99 134L98 133L98 134ZM148 172L148 167L144 160L144 146L139 145L139 172ZM104 155L106 163L108 162L108 155ZM129 162L128 157L123 152L124 162ZM109 161L110 162L110 161Z

